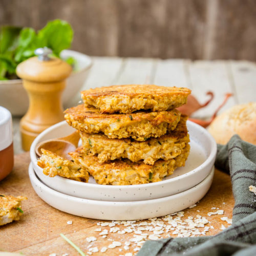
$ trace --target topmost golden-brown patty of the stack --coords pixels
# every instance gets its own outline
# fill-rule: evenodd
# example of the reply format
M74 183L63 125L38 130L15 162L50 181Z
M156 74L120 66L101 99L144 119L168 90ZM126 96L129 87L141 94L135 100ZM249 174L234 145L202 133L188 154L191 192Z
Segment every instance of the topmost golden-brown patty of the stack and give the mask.
M127 84L82 91L84 104L102 113L131 113L137 110L166 111L187 101L187 88L163 87L153 84Z

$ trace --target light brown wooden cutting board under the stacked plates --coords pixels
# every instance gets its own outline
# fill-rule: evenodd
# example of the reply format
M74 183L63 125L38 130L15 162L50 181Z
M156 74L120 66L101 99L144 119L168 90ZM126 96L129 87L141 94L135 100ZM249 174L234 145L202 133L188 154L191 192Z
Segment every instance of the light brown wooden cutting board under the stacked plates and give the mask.
M0 194L13 196L26 196L28 200L23 201L24 215L19 221L0 227L0 250L11 252L23 252L25 255L49 255L56 253L62 255L79 255L76 250L71 247L59 234L64 233L72 242L78 245L84 253L88 253L88 246L97 247L99 252L94 252L92 255L125 255L127 252L136 254L134 248L137 246L131 243L129 250L125 250L124 243L134 237L135 233L119 234L118 232L110 233L106 238L99 235L95 229L99 220L81 218L74 215L61 212L42 201L34 192L29 176L28 166L30 162L29 153L24 153L15 156L15 164L12 173L3 181L0 182ZM232 217L232 208L234 199L232 196L230 177L216 169L214 181L206 196L197 203L197 206L191 209L184 210L184 217L188 216L196 218L196 215L206 217L210 222L206 226L212 226L206 235L214 235L221 231L221 225L229 226L227 222L222 221L221 217ZM211 209L216 207L216 209ZM224 210L224 215L208 216L208 212L215 212L219 209ZM72 225L67 222L72 221ZM137 224L140 222L137 222ZM166 223L167 224L167 223ZM118 224L120 230L127 228L123 224ZM101 227L108 229L110 227ZM161 237L166 237L170 234L172 237L177 235L172 234L172 230L160 234ZM152 232L146 231L151 234ZM88 242L86 238L95 237L97 240ZM114 241L121 242L121 246L114 249L108 249L101 253L100 249L103 246L108 247Z

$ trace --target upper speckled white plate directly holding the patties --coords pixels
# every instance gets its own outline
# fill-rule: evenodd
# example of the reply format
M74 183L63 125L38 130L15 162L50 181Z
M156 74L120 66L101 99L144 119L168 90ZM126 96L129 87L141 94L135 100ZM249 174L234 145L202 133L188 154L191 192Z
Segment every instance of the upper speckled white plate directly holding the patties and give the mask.
M190 154L184 167L175 170L165 180L141 185L100 185L93 178L89 183L69 180L59 176L53 178L42 173L37 165L35 146L44 140L63 137L74 132L66 121L57 123L39 134L30 148L30 157L37 176L47 186L70 196L99 201L141 201L156 199L187 190L209 175L214 165L217 146L211 135L200 125L187 122L190 135Z

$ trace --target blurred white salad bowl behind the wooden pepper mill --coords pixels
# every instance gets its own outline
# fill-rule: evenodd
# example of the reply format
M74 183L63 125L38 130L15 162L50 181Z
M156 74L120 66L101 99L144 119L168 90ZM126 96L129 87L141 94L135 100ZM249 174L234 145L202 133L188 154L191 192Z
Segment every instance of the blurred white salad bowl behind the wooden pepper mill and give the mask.
M62 58L74 57L77 60L77 71L68 77L62 94L62 102L65 108L68 108L75 100L77 101L73 98L86 80L92 66L92 59L88 55L71 50L63 50L60 55ZM27 112L29 99L23 88L22 79L0 80L0 105L14 116L21 116Z

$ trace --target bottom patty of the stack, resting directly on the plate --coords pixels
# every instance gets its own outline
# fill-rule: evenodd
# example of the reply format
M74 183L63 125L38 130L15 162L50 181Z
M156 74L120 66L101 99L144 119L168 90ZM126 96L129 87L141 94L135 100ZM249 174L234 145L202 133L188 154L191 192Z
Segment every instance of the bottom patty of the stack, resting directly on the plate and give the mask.
M158 160L154 165L142 161L131 162L127 159L99 163L96 156L83 155L81 148L69 154L88 170L98 184L136 185L161 181L164 177L173 174L176 168L184 166L189 154L189 144L186 144L176 158L167 161Z

